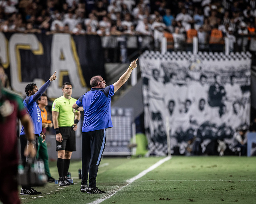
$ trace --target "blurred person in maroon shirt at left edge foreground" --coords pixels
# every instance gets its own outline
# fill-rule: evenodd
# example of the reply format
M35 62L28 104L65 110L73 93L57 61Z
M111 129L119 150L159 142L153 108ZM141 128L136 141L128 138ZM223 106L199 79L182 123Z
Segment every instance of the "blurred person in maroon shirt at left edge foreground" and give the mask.
M20 96L2 88L0 80L0 200L4 204L20 203L17 183L17 118L20 119L28 137L28 155L35 157L36 149L31 145L32 141L35 142L33 123ZM27 154L27 145L24 154Z

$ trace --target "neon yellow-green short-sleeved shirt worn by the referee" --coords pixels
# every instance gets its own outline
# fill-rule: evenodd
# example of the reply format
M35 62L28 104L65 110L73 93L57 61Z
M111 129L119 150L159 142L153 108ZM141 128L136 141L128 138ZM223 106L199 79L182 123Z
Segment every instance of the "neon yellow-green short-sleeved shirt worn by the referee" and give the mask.
M71 127L74 125L75 113L77 112L72 108L76 102L75 98L67 99L64 96L56 98L52 103L52 111L59 112L58 123L59 127Z

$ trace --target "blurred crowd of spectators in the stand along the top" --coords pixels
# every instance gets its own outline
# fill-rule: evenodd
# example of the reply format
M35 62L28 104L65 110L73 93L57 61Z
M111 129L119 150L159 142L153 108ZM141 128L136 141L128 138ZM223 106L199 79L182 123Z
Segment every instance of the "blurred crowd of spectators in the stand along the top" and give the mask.
M256 51L256 0L0 0L0 31L149 35L155 50Z

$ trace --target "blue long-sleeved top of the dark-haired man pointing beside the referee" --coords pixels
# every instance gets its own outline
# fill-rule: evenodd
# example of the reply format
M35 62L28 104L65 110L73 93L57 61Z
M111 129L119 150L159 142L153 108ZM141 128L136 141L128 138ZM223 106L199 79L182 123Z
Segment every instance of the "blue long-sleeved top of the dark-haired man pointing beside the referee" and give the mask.
M40 135L43 127L41 111L36 101L42 96L42 94L47 89L50 83L51 81L48 80L34 95L26 96L26 98L23 101L23 105L26 108L26 111L33 122L34 134L36 135ZM21 128L20 135L26 135L24 126L22 126Z

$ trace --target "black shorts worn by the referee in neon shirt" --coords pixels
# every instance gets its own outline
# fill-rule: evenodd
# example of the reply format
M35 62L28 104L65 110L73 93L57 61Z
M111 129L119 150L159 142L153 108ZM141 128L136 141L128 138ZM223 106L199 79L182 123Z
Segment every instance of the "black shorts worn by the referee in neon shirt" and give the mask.
M62 142L56 140L56 151L67 150L76 151L76 132L71 127L59 127L62 135Z

